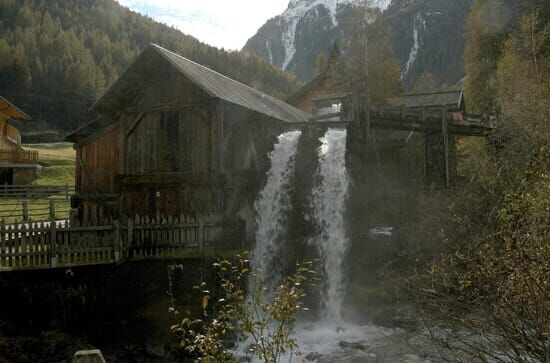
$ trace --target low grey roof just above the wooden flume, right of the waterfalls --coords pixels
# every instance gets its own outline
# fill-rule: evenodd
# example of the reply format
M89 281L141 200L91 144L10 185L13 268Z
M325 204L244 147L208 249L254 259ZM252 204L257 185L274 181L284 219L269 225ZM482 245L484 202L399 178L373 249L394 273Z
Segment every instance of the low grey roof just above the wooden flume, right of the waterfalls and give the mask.
M446 107L448 109L465 109L463 91L447 91L409 94L389 98L391 106L403 107Z

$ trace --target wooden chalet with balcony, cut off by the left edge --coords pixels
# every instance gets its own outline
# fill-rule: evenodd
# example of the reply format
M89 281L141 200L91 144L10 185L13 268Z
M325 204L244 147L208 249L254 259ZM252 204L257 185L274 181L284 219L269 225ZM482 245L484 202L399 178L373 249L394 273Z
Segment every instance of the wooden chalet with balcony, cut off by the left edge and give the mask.
M21 147L21 134L10 120L30 120L30 116L0 97L0 185L30 184L39 168L38 152Z

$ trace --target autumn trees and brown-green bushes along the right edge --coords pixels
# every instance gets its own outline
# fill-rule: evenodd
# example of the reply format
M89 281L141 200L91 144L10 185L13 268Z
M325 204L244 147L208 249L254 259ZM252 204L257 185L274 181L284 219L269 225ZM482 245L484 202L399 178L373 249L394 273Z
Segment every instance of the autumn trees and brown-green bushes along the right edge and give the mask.
M463 184L415 221L435 256L419 301L460 332L437 338L455 353L548 362L550 2L475 0L466 40L468 107L498 115L498 129L461 141Z

